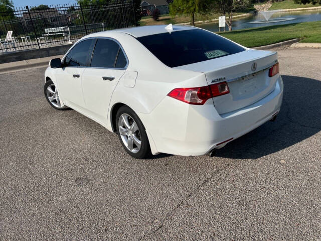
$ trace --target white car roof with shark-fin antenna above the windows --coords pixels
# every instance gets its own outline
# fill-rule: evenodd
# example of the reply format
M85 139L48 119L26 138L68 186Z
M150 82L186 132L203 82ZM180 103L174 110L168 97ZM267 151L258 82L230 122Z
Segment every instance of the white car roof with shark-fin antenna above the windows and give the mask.
M167 27L167 28L166 28ZM153 35L153 34L161 34L161 33L168 33L168 32L176 32L182 30L190 30L190 29L197 29L192 26L183 26L183 25L151 25L151 26L141 26L141 27L133 27L133 28L124 28L124 29L114 29L104 32L99 32L94 34L95 36L99 35L101 37L108 37L108 33L116 32L116 33L125 33L129 34L135 38L139 38L142 36Z

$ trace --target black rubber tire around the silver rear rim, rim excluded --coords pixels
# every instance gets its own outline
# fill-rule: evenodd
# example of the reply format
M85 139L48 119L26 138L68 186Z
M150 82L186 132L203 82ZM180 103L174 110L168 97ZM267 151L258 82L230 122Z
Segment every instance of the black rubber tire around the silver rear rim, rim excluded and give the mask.
M124 144L124 142L123 142L123 140L121 138L118 123L119 123L119 118L123 114L129 115L129 117L131 117L133 119L133 121L137 124L138 131L139 131L138 134L139 134L139 138L140 138L140 141L141 141L141 145L140 145L139 151L136 152L136 153L133 153L132 151L130 151L127 148L127 146L125 146L125 144ZM150 157L151 156L151 152L150 152L148 137L147 137L145 128L144 128L142 122L140 121L139 117L137 116L137 114L131 108L129 108L128 106L121 106L117 111L116 120L115 121L116 121L117 135L118 135L119 141L120 141L121 145L123 146L123 148L125 149L125 151L130 156L132 156L133 158L136 158L136 159L146 159L146 158Z

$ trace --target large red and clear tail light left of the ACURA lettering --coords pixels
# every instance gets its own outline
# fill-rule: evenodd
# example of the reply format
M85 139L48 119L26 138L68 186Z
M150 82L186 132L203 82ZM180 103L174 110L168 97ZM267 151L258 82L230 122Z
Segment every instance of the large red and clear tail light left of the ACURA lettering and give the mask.
M189 104L204 104L209 98L228 94L229 86L226 82L196 88L173 89L168 96Z

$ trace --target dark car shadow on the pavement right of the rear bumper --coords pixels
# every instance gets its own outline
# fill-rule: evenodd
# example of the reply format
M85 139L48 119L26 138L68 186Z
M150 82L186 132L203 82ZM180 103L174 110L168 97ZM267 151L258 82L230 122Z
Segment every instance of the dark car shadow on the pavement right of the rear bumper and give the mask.
M321 130L321 81L288 75L282 75L282 79L283 103L276 120L227 144L217 150L215 156L257 159L299 143Z

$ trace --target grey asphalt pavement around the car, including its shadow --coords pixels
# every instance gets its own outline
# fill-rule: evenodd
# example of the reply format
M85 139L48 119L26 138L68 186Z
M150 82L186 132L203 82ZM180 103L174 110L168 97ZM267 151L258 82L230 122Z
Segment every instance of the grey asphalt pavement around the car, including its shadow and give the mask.
M0 240L321 240L321 49L277 51L276 121L214 158L135 160L45 68L0 75Z

